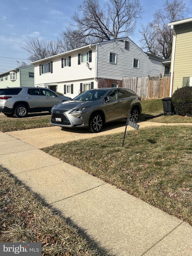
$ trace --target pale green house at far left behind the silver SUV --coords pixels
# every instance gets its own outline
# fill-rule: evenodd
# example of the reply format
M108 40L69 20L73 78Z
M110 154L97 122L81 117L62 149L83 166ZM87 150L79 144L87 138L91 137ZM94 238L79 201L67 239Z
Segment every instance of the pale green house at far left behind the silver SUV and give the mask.
M0 74L0 88L20 86L34 86L34 65Z

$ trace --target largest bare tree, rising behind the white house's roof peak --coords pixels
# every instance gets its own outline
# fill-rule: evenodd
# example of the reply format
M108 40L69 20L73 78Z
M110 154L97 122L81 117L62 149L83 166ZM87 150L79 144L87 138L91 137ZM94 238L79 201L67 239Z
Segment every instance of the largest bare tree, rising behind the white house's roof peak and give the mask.
M72 16L74 23L60 34L68 49L133 35L143 8L139 0L109 0L103 7L98 0L84 0L78 11Z

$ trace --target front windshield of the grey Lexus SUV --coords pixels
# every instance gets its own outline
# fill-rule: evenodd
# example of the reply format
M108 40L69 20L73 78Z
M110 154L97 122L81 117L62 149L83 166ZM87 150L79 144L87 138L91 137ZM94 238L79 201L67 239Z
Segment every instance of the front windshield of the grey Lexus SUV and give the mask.
M88 90L76 96L73 101L95 101L103 97L107 90Z

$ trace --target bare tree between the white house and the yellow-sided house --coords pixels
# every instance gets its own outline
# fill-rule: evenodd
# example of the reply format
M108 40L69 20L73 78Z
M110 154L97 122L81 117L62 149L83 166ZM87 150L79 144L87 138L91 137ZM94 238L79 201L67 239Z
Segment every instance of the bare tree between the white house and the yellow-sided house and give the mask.
M140 40L142 50L152 53L161 58L167 59L171 56L173 34L168 23L181 20L184 13L189 11L185 7L184 0L166 0L164 9L157 10L153 14L153 21L141 26L139 32L142 35Z

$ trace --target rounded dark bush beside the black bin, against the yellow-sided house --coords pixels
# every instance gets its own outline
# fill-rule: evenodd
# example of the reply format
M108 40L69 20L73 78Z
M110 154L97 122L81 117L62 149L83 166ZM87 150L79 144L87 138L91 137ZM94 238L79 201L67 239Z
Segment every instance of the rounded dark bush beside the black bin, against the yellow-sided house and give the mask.
M177 89L171 98L176 114L192 116L192 86Z

